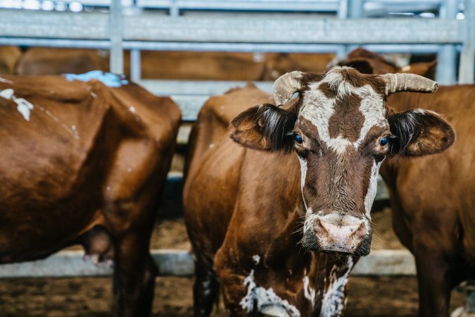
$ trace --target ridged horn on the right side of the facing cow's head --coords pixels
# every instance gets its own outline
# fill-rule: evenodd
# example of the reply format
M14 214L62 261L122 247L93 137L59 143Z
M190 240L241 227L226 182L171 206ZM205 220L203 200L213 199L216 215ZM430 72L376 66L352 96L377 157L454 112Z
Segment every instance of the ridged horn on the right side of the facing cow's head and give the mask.
M415 74L385 74L386 95L395 92L436 92L438 83Z

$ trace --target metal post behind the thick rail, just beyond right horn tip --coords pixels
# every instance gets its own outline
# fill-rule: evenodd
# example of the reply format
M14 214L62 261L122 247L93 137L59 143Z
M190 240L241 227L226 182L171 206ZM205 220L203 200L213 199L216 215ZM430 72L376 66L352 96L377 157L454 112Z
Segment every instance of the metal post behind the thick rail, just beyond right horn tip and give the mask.
M457 17L457 0L444 0L439 18L443 20ZM455 68L457 67L457 48L455 45L441 45L437 56L436 79L444 85L455 84Z

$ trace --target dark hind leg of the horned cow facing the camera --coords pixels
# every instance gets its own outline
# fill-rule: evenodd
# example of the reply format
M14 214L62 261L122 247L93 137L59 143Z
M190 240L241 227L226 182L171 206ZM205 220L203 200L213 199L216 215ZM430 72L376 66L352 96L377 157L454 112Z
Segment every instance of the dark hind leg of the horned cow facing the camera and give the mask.
M210 316L213 304L219 300L220 284L212 268L203 261L195 261L195 283L193 286L193 306L195 317Z

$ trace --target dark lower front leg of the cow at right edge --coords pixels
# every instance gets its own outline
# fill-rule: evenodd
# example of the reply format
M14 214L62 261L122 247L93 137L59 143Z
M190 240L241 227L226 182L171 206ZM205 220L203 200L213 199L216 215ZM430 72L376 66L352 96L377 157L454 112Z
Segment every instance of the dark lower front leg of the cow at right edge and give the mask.
M450 263L437 251L416 247L419 316L449 316Z

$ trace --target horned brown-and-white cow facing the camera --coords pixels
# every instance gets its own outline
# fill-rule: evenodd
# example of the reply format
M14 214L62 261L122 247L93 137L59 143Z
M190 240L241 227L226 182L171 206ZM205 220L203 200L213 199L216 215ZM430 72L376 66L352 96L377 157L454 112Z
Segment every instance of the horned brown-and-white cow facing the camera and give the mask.
M341 316L348 275L369 253L379 166L455 137L437 113L396 112L386 99L436 87L336 66L286 73L273 97L251 85L209 99L191 132L183 200L195 316L209 316L220 287L229 316Z

